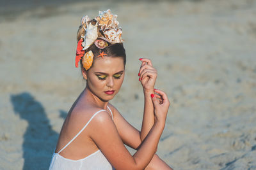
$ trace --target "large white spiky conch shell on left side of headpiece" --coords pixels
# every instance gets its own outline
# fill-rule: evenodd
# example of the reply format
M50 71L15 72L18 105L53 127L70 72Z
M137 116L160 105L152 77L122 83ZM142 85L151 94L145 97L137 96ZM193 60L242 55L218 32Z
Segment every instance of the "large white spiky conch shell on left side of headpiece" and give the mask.
M92 22L86 22L86 32L85 36L81 36L84 38L85 41L83 41L83 50L86 50L89 48L93 42L98 38L98 22L96 22L95 25L92 24Z

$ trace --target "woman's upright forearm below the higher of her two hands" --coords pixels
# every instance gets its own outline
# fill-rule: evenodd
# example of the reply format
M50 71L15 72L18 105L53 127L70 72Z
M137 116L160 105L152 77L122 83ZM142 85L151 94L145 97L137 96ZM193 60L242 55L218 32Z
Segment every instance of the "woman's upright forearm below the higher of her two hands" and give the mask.
M148 132L154 125L154 106L150 94L154 94L154 90L144 90L144 113L141 125L140 138L145 139Z

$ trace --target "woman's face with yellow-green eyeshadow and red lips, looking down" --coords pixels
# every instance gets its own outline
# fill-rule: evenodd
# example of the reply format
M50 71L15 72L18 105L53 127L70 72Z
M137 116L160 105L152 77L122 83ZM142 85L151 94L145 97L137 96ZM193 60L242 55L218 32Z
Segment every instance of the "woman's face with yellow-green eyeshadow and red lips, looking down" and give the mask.
M101 57L93 60L86 74L87 85L99 99L109 101L119 91L124 81L124 59L122 57Z

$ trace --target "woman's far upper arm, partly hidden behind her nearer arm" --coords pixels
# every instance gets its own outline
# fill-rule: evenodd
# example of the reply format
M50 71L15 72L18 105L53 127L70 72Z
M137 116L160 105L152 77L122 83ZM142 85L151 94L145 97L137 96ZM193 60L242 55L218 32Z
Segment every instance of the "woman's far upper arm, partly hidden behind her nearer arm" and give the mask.
M137 149L141 144L140 131L129 124L114 106L111 106L111 110L113 110L113 118L120 138L125 145Z

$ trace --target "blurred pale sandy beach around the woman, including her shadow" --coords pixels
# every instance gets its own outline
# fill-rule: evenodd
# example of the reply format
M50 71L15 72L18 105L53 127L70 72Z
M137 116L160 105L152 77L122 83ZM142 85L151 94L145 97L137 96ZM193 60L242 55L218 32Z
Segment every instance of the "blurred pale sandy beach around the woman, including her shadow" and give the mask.
M157 154L174 169L256 169L256 1L0 2L0 169L48 169L85 87L81 17L117 14L125 81L111 101L140 129L141 57L171 101ZM131 150L131 153L134 152Z

